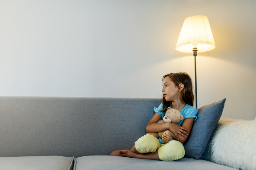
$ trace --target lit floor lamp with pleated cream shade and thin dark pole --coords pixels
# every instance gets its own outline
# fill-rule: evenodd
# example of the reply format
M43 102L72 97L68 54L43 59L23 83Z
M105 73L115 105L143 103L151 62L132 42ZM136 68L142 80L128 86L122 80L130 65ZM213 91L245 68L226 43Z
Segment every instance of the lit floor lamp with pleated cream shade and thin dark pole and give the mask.
M195 99L197 108L197 52L210 51L215 49L213 33L207 17L196 15L184 20L180 36L175 48L180 52L193 52L195 67Z

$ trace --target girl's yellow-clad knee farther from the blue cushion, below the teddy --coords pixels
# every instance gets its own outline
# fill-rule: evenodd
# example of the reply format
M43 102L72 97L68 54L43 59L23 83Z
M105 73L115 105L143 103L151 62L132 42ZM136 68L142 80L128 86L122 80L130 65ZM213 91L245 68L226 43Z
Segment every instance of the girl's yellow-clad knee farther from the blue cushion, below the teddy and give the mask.
M140 153L156 152L159 147L160 142L158 139L150 134L142 136L135 142L135 148Z

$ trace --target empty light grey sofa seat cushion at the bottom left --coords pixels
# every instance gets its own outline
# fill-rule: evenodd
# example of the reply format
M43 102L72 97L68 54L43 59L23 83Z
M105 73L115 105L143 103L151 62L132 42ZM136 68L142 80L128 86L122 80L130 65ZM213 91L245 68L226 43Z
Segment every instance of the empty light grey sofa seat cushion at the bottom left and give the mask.
M0 157L0 169L4 170L72 170L74 157L24 156Z

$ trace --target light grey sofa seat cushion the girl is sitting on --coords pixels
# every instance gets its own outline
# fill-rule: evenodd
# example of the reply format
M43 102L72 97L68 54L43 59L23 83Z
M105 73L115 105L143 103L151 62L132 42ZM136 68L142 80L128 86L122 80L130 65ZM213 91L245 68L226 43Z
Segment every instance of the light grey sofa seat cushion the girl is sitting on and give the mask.
M169 167L169 168L167 168ZM74 170L150 170L150 169L190 169L190 170L234 170L206 160L182 158L172 162L135 159L119 156L83 156L75 158Z

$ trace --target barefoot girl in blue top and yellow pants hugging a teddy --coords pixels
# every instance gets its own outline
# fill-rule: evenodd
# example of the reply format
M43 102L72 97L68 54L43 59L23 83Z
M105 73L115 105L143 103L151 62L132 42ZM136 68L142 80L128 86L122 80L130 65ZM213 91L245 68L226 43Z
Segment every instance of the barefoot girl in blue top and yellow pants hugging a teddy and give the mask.
M193 121L197 119L197 109L192 107L194 94L191 77L187 73L170 73L163 76L162 80L163 101L158 108L154 108L156 114L147 124L146 132L155 133L169 130L174 139L166 144L161 138L146 134L135 142L131 150L113 151L110 153L111 156L164 161L184 157L183 143L191 131ZM178 124L165 123L163 117L168 107L178 109L184 119Z

